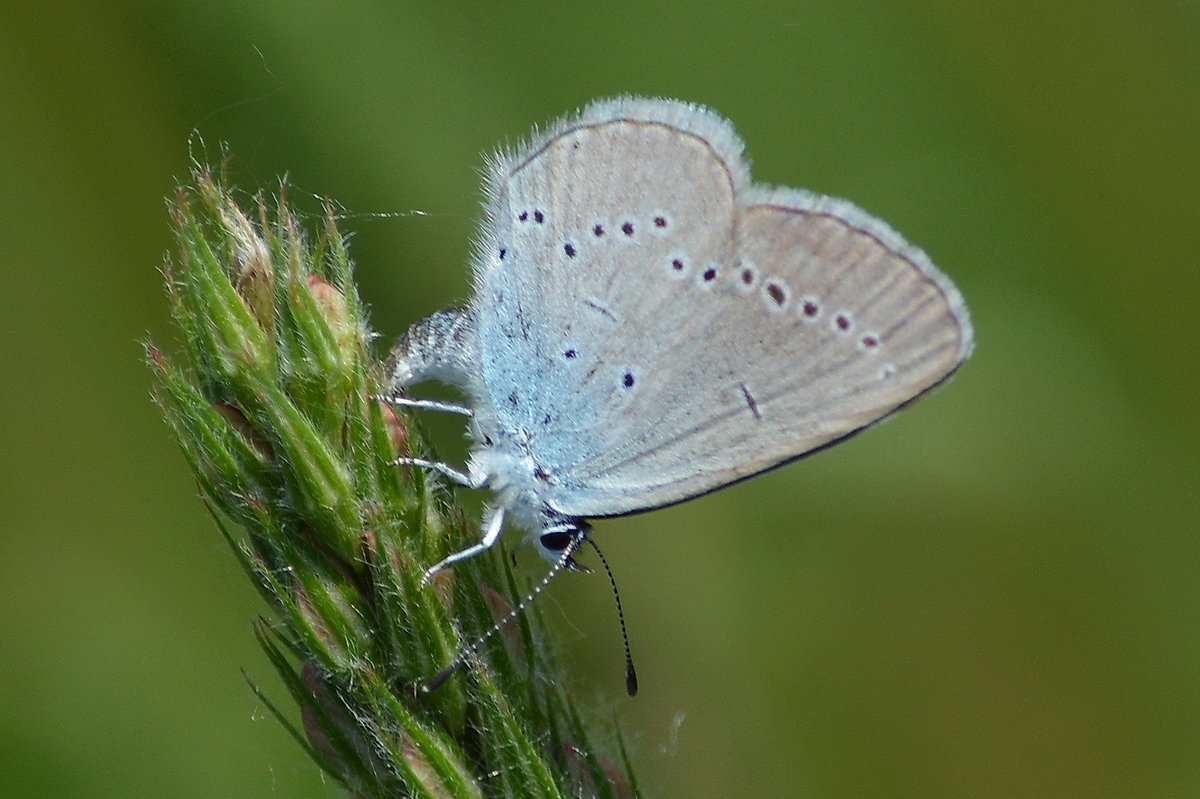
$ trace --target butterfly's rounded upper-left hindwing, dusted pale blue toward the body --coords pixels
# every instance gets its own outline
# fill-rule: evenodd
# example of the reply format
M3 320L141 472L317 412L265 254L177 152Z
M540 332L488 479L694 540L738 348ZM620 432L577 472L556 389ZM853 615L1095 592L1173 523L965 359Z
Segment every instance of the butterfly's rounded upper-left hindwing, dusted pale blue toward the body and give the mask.
M596 121L560 125L490 175L476 296L497 308L480 314L487 394L566 479L605 444L602 415L628 400L646 342L672 335L647 272L682 286L700 254L733 248L737 140L710 114L682 127L642 107L593 107Z

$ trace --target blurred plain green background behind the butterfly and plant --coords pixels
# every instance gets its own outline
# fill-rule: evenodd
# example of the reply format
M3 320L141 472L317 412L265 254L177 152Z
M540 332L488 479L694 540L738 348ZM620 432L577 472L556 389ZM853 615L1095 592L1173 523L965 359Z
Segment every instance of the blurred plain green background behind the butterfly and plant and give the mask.
M757 180L892 222L978 334L890 423L598 525L642 695L622 693L602 577L547 605L646 787L1200 795L1195 2L5 16L0 795L340 795L242 681L287 702L148 395L190 152L228 143L240 187L287 173L308 210L364 215L347 227L390 338L467 296L481 154L619 92L709 104Z

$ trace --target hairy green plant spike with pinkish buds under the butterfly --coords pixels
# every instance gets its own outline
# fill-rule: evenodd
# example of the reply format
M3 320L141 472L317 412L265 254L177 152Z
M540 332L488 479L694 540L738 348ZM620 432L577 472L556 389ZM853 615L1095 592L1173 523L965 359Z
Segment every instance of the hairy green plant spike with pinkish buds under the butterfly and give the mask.
M332 211L310 241L286 186L240 205L199 167L170 211L181 346L148 346L155 397L271 607L254 632L299 722L264 696L271 711L356 797L636 795L619 735L618 769L556 675L536 608L420 690L527 588L500 553L421 584L473 531L432 477L389 464L425 447L370 398L385 386Z

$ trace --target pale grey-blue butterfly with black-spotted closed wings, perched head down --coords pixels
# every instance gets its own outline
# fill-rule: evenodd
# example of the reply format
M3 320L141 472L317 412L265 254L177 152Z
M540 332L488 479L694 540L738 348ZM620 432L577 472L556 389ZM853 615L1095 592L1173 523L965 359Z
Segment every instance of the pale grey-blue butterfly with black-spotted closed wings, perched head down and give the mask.
M966 305L925 253L845 200L751 184L742 149L710 110L620 97L491 160L475 295L389 365L397 392L461 388L464 405L389 400L468 415L474 440L466 470L397 463L496 493L480 541L426 577L506 517L569 565L586 519L834 444L970 355Z

